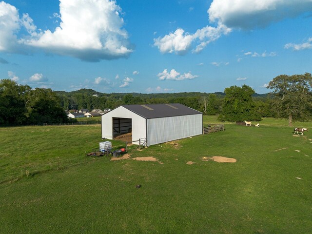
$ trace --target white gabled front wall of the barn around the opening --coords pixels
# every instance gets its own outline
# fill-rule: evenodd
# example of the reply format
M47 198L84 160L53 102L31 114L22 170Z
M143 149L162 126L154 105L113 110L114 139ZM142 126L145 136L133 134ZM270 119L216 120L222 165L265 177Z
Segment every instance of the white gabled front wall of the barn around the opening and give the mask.
M102 115L102 138L113 139L113 117L116 118L131 118L132 119L132 140L146 138L146 120L145 118L129 111L120 106ZM138 144L138 142L134 142Z

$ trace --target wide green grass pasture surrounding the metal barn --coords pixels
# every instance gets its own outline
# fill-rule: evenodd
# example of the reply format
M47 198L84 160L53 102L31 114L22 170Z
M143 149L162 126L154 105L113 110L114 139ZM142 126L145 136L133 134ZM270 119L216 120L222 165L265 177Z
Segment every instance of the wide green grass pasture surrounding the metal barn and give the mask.
M311 132L259 123L129 152L156 162L86 157L100 125L0 128L0 232L311 233Z

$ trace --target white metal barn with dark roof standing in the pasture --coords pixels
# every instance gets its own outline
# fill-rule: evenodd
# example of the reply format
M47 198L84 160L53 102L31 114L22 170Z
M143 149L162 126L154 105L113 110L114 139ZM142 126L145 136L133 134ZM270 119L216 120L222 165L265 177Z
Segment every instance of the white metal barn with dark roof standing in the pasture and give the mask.
M132 133L150 146L201 135L202 126L202 113L182 104L121 105L102 116L102 138Z

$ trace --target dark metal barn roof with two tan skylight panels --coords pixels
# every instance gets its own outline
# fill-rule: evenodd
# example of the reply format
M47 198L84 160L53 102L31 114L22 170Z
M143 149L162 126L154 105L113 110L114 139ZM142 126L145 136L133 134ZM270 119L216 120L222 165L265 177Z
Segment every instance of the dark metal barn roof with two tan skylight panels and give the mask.
M202 114L199 111L196 111L179 103L121 106L144 118L160 118Z

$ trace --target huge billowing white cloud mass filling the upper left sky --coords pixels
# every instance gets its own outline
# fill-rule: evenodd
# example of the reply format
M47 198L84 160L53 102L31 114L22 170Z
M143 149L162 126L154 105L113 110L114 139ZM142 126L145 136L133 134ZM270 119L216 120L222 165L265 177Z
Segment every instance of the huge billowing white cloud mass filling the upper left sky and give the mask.
M37 30L28 14L0 2L0 51L24 53L39 48L48 53L87 61L127 57L128 33L123 29L121 8L114 0L59 0L60 24L54 30ZM58 17L58 15L55 15ZM29 35L17 38L20 29Z

